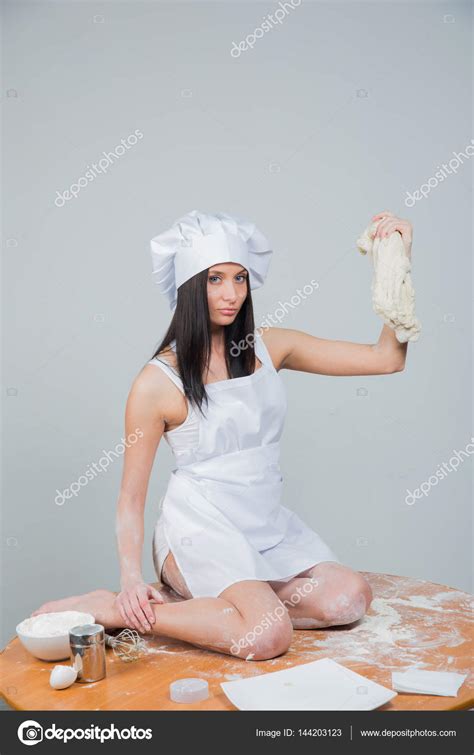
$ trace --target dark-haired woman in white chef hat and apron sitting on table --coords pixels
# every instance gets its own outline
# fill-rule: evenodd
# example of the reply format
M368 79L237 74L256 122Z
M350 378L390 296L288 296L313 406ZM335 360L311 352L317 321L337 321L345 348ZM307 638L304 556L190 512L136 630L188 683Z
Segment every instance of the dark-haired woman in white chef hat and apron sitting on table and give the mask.
M376 235L412 227L383 212ZM133 627L262 660L284 653L293 628L360 619L368 582L280 503L281 369L380 375L404 369L407 344L384 325L376 344L284 328L255 330L250 289L271 250L245 221L193 211L152 241L154 275L175 310L155 356L135 379L117 510L121 590L53 601L31 615L83 610L106 628ZM158 369L157 369L158 368ZM176 466L154 540L157 583L141 574L143 512L157 447ZM159 588L159 589L158 589Z

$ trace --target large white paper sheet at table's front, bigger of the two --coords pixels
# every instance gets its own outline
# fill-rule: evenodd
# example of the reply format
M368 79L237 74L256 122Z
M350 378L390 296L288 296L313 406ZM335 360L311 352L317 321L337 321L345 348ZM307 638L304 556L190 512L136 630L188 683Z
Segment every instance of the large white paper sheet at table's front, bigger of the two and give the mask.
M240 710L374 710L397 696L330 658L221 687Z

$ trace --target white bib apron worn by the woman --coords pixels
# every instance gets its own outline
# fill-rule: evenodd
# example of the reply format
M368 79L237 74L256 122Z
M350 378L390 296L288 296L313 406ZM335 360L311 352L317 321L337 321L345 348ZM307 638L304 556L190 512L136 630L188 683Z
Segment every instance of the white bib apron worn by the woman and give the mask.
M240 580L288 581L321 561L341 563L281 504L285 388L257 333L255 352L261 367L251 375L207 384L206 416L189 410L188 401L185 423L164 436L169 436L176 467L155 527L153 560L161 581L171 550L195 598L217 597ZM168 363L150 363L162 367L184 394Z

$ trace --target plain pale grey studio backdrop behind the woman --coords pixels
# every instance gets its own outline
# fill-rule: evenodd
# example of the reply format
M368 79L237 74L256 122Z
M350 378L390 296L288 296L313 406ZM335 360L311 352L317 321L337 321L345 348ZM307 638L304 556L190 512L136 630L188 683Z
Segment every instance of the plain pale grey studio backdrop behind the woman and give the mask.
M195 208L270 237L257 323L315 279L280 326L360 343L382 323L355 239L381 210L413 222L423 332L406 370L281 373L284 502L354 569L471 589L471 459L415 505L405 495L471 438L472 161L404 204L472 137L470 6L303 0L231 57L275 7L4 5L2 646L46 600L119 589L121 459L63 506L54 497L120 442L131 383L171 317L149 240ZM55 206L135 129L143 139L107 174ZM171 469L163 441L150 581Z

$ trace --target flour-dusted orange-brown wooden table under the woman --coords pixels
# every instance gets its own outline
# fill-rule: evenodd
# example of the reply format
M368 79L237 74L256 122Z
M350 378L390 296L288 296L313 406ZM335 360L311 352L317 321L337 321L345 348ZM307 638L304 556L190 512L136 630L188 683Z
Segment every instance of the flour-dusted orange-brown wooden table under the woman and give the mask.
M378 710L460 710L474 706L472 598L445 585L361 572L374 600L358 622L295 630L289 650L267 661L245 661L165 636L146 635L149 654L124 664L107 648L107 677L54 690L55 662L33 658L17 637L0 654L0 693L17 710L236 710L220 682L333 658L386 687L391 672L416 667L468 674L457 697L399 693ZM68 661L58 661L67 664ZM201 677L209 698L194 705L169 699L171 681Z

